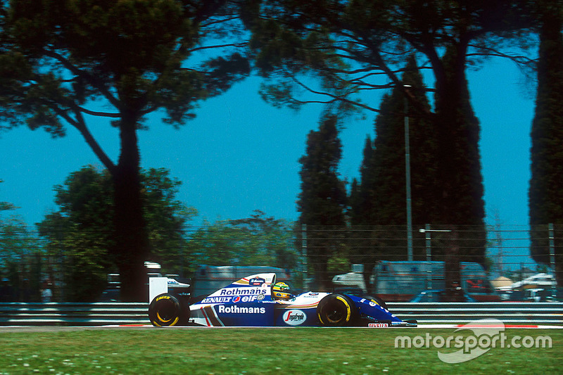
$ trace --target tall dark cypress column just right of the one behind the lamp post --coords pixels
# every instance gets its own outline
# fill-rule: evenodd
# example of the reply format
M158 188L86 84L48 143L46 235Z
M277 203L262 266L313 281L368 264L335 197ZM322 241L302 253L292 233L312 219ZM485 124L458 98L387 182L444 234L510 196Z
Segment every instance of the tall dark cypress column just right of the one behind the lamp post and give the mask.
M453 299L457 298L453 283L460 287L460 260L483 264L486 243L479 121L469 101L466 54L467 43L464 42L446 51L441 65L443 71L439 75L441 80L436 82L438 173L443 182L441 196L438 197L441 200L441 212L437 216L441 222L438 224L471 226L460 233L452 233L445 249L445 267L455 272L445 280L448 298Z

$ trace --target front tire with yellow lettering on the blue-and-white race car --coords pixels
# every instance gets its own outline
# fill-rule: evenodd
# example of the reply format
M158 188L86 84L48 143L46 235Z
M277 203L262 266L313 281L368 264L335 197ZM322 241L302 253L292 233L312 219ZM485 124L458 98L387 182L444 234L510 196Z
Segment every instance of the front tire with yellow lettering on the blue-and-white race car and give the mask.
M324 297L317 307L317 314L322 326L350 326L358 318L358 310L352 300L341 294Z

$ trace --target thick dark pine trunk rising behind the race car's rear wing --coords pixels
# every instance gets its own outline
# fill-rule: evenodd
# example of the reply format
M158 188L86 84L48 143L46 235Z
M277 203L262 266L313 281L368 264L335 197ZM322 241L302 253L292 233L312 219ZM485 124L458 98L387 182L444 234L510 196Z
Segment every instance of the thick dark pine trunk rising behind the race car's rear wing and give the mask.
M148 236L141 199L137 117L125 115L120 124L121 154L113 174L115 189L115 243L113 254L125 302L146 302L148 279L144 261Z

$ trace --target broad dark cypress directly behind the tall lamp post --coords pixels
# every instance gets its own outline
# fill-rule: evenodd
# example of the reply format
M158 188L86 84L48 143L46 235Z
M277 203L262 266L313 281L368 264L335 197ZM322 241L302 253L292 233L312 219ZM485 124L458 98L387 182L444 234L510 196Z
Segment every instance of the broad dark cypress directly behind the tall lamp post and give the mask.
M412 56L405 69L403 82L417 101L429 103L424 94L422 75ZM410 127L412 219L417 225L434 222L436 207L436 135L433 123L420 108L408 106L401 89L393 89L381 102L381 112L375 120L376 138L373 145L364 148L360 169L361 183L358 207L354 210L353 224L369 226L396 226L393 236L406 239L405 227L405 110L408 108ZM387 239L390 229L385 229ZM377 238L377 229L372 238ZM377 244L376 244L377 243ZM377 258L406 259L406 242L403 240L376 241ZM394 249L394 250L391 250Z

